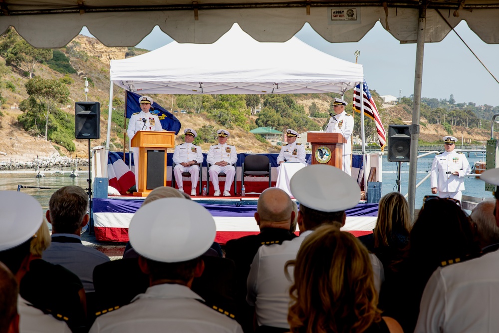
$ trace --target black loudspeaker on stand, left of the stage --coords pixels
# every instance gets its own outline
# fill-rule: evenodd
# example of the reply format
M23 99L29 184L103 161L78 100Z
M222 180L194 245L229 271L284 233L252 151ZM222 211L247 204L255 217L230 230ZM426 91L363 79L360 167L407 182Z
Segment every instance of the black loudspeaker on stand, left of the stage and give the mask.
M76 139L100 138L100 103L74 103L74 136Z

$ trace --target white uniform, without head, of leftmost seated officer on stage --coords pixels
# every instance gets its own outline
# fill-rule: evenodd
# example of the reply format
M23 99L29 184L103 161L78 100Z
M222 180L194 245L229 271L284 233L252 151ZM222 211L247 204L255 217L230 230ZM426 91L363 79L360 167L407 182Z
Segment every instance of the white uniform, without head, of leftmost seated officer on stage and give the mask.
M194 143L184 142L175 146L175 151L173 153L173 161L175 162L175 168L173 168L173 173L175 174L175 180L179 184L179 188L183 187L182 182L182 172L189 172L191 174L191 186L195 190L198 186L199 180L199 166L194 164L190 167L185 167L180 165L180 163L186 163L190 161L196 161L198 163L203 162L203 152L201 147L195 145Z

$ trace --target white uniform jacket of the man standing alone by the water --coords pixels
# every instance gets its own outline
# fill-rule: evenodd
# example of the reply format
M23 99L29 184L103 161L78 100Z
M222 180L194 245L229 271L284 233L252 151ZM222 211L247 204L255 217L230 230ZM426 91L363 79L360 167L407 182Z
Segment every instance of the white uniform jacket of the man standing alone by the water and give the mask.
M454 176L446 172L459 172ZM471 172L470 163L464 154L453 150L435 156L432 163L431 187L439 192L458 192L465 189L464 176Z

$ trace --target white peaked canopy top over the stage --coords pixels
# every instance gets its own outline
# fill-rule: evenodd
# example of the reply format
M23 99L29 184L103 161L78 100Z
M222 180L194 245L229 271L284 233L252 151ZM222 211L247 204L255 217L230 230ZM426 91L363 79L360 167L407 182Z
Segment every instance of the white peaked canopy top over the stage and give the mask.
M296 37L261 43L237 24L213 44L176 41L111 60L111 80L140 94L343 93L364 79L363 67Z

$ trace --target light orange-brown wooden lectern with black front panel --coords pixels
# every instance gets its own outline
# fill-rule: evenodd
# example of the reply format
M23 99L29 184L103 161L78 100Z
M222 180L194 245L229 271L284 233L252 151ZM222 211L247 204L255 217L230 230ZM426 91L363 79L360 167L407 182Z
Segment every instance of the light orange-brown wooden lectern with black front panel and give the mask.
M175 132L138 131L132 147L139 148L139 184L136 197L147 197L156 187L166 186L166 151L175 147Z

